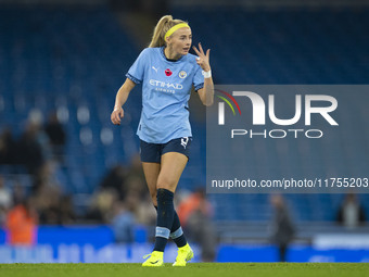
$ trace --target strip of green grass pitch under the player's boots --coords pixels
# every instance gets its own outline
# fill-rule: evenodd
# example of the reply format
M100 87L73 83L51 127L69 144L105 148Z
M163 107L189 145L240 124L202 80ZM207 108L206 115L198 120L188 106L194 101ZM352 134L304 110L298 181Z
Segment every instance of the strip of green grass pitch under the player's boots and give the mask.
M187 267L142 267L141 264L0 264L5 277L289 277L369 276L365 263L189 263Z

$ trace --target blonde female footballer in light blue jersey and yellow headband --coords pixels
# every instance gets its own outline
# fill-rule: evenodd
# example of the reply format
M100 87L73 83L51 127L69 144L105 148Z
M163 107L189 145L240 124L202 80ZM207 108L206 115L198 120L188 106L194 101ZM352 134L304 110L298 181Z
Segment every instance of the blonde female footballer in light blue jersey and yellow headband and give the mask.
M129 68L119 88L111 119L119 125L123 104L136 84L142 83L142 112L137 135L149 191L157 210L155 245L142 266L162 266L167 240L178 247L174 266L186 266L193 257L178 215L174 209L174 193L186 167L192 140L188 101L194 86L204 105L212 105L214 84L206 54L201 43L190 54L192 34L181 20L163 16L149 48L145 48Z

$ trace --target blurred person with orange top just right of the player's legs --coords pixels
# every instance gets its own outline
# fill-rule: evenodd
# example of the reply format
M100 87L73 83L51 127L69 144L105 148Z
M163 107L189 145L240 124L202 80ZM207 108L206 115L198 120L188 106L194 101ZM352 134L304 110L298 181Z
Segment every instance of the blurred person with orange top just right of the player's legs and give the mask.
M186 228L189 239L201 247L203 262L213 262L216 255L217 238L211 222L212 204L206 200L205 190L200 188L184 198L177 207L181 225Z

